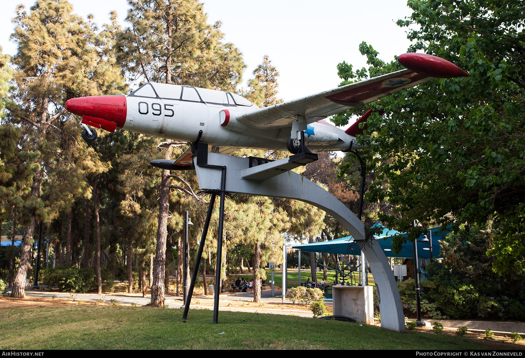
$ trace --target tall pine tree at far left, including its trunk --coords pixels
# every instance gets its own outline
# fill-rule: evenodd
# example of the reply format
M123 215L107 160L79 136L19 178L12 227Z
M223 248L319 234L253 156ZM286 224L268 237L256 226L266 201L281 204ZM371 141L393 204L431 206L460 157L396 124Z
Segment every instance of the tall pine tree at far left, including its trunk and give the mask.
M62 134L67 135L75 127L74 122L68 122L70 117L66 116L64 103L71 97L118 91L122 84L115 81L118 69L100 56L97 48L100 37L95 34L95 25L83 22L71 10L64 0L37 1L30 14L19 6L14 19L12 38L18 43L13 58L17 70L13 92L16 106L9 108L8 120L22 129L18 146L31 154L27 165L32 166L33 175L30 193L20 203L26 229L13 297L24 297L36 222L49 222L61 208L68 212L72 196L82 187L77 185L71 195L53 196L53 187L66 176L73 181L83 176L67 171L60 161L69 159L57 155L79 152L72 145L75 140L60 140ZM48 196L47 201L43 200L43 194Z

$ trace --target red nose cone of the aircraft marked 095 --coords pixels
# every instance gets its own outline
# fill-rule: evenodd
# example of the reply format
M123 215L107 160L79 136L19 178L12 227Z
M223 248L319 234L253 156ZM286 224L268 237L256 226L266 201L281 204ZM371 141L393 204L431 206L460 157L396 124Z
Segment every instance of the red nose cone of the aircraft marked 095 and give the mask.
M82 115L83 123L110 132L123 127L128 112L125 96L72 98L66 102L66 110Z

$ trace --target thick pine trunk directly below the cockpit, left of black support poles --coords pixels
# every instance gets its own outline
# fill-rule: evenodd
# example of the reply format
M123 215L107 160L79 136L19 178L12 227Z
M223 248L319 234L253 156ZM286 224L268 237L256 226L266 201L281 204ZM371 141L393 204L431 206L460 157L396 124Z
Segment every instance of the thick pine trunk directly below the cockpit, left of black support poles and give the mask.
M165 151L165 159L171 158L172 146ZM170 171L162 170L161 193L159 199L159 226L157 229L157 245L153 260L153 283L151 285L151 306L164 307L164 275L166 265L167 217L169 215Z

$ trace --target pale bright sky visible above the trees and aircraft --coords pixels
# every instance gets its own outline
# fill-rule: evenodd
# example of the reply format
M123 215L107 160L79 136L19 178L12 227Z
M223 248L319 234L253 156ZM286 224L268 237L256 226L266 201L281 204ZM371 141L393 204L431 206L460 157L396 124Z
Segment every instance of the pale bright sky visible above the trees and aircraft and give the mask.
M16 44L9 41L12 19L19 1L0 0L0 46L14 55ZM22 1L26 10L33 1ZM74 13L84 18L94 15L97 24L109 22L116 10L125 27L128 12L125 0L70 0ZM328 0L294 1L204 1L208 23L222 22L224 41L233 43L243 53L247 65L243 80L268 55L280 73L278 97L285 101L337 87L337 64L346 61L354 69L366 65L359 44L366 41L390 61L406 52L410 41L406 28L395 22L412 12L406 0ZM322 4L322 6L320 6ZM246 86L241 85L241 86Z

